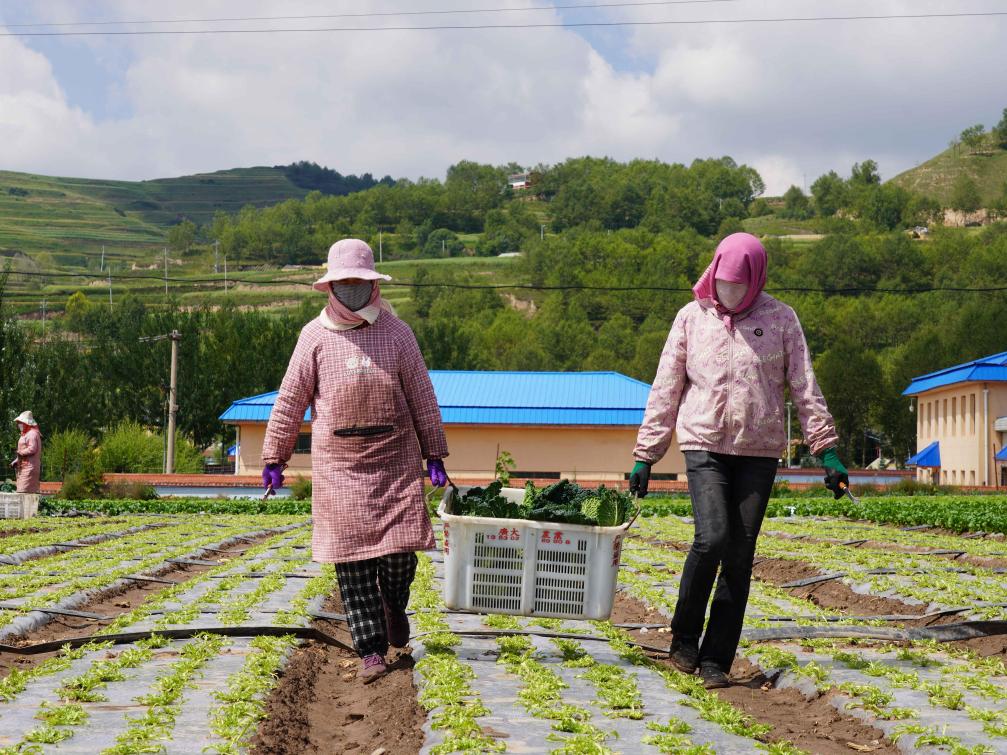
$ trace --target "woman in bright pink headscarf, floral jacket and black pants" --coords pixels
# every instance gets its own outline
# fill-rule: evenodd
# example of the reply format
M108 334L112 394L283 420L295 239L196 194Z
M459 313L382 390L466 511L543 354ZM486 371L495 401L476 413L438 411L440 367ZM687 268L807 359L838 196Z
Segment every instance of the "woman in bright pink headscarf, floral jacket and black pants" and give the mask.
M825 462L826 486L839 498L849 484L801 322L762 291L765 272L765 249L755 237L733 234L717 247L693 288L695 300L672 325L629 476L629 489L645 495L651 466L678 433L696 533L672 618L671 659L685 673L699 669L708 689L730 684L755 541L787 443L787 387L806 442Z

